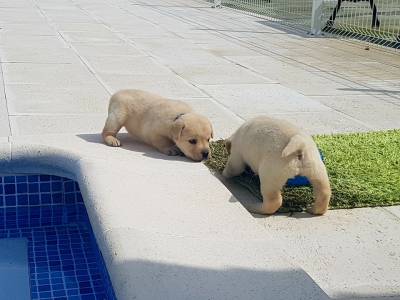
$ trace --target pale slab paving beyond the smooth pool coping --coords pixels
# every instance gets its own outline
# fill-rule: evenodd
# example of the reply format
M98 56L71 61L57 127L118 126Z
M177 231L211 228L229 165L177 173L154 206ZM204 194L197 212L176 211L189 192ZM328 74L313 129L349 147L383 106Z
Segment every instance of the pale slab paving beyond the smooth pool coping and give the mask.
M189 102L217 137L257 114L311 133L400 128L399 53L206 1L0 0L0 60L3 138L98 133L121 88ZM329 296L400 299L398 207L257 221Z

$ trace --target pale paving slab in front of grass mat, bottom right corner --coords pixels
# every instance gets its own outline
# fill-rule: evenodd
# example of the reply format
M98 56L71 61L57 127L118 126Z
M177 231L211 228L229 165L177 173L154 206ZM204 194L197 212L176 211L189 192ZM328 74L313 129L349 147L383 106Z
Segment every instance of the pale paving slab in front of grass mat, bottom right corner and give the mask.
M399 296L400 244L394 237L400 223L384 209L334 210L323 219L296 213L256 220L279 232L284 251L330 297Z

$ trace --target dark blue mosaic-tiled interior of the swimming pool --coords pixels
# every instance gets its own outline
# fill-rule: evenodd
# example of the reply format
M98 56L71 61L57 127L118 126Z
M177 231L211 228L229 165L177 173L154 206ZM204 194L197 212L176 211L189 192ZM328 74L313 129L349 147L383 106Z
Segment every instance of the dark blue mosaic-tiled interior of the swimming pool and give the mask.
M79 186L0 176L0 239L26 238L31 299L116 299Z

